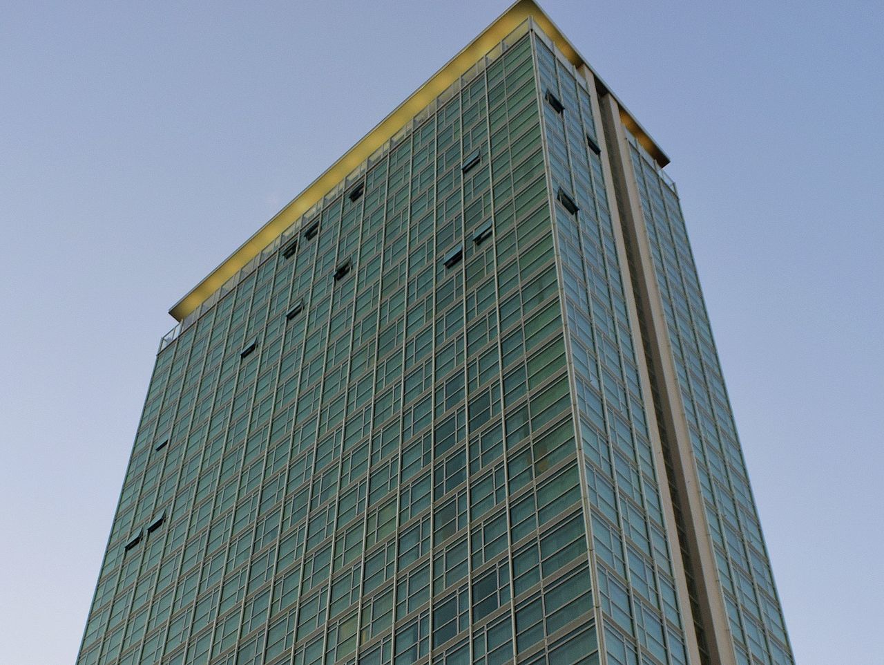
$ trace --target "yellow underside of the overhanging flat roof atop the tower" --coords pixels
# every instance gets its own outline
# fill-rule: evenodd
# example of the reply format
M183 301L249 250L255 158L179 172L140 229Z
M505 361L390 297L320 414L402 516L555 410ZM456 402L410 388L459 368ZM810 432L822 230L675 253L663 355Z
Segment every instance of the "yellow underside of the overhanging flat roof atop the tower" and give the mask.
M430 80L420 88L417 88L412 96L408 97L403 103L400 103L390 115L381 120L369 134L366 134L353 148L347 150L343 157L334 164L331 164L329 169L314 180L300 195L297 195L291 203L288 203L285 208L280 210L267 224L263 225L257 233L233 252L231 256L225 259L224 263L220 264L214 271L211 271L208 277L202 279L190 293L175 303L171 310L169 310L171 316L181 321L196 310L211 294L214 294L218 288L222 287L228 279L235 275L240 268L260 254L263 248L271 244L281 233L297 221L301 215L321 201L324 195L338 185L341 180L347 178L356 167L374 154L386 141L397 134L402 127L406 126L409 120L414 118L420 111L423 111L440 93L451 86L455 80L458 80L462 74L467 73L470 67L476 65L477 61L497 46L499 42L502 42L525 19L529 18L533 19L537 27L552 39L552 42L555 43L556 47L568 58L572 65L575 65L575 67L586 65L583 57L581 57L571 42L568 42L568 39L561 34L559 28L555 27L555 24L546 16L544 11L537 6L537 3L533 2L533 0L518 0L499 19L495 20L492 25L486 27L482 34L479 34L465 49L454 56L447 65L433 74ZM592 71L591 67L589 65L586 66L596 77L597 84L608 89L598 78L598 75ZM632 117L629 111L626 111L622 104L620 104L620 107L621 118L629 132L636 136L636 139L642 144L644 149L654 157L660 166L668 164L669 159L666 154L644 132L644 129L636 122L636 119Z

